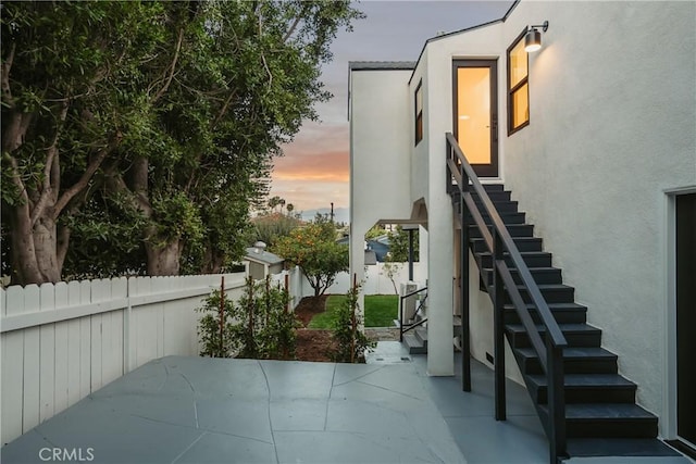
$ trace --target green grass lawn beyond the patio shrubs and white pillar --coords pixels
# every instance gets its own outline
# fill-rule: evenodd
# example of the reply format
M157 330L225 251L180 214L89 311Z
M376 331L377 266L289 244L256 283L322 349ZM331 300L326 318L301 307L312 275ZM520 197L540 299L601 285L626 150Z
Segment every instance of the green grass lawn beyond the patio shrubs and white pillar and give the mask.
M336 311L343 294L332 294L326 299L326 311L316 314L309 323L309 328L331 329L336 319ZM365 296L365 327L391 327L399 311L399 297L396 294L366 294Z

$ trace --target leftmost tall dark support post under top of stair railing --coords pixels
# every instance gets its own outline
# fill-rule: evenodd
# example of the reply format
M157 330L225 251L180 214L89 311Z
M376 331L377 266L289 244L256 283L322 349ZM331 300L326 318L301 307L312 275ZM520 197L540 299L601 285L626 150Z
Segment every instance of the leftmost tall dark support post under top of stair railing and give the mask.
M461 195L459 198L459 223L461 224L461 230L459 234L459 265L461 266L461 281L459 283L461 300L461 389L462 391L471 391L471 341L469 334L469 218L467 214L469 209L464 201L464 195L469 193L469 176L464 171L463 164L459 166L459 173L461 174Z

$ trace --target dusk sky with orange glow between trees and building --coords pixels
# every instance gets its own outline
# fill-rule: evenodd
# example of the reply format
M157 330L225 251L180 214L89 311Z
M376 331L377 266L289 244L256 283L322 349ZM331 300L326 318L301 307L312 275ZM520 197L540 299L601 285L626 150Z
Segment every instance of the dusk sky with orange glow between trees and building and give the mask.
M353 32L340 32L332 45L334 60L322 80L334 98L316 106L321 122L306 122L295 141L275 160L271 196L296 211L348 208L348 62L417 61L425 40L505 15L512 1L361 1L366 14Z

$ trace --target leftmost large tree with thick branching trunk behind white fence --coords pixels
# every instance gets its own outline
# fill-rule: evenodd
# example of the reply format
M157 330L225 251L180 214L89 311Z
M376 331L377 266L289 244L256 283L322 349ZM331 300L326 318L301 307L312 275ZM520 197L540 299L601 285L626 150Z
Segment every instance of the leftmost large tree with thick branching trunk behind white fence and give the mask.
M156 53L158 4L2 3L2 227L16 284L57 281L67 253L62 218L133 117L119 81Z

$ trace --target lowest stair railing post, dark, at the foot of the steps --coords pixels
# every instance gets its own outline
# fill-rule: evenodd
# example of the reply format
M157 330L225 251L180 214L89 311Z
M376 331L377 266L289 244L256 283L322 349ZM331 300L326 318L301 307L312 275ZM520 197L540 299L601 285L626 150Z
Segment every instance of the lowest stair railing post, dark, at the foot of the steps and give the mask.
M546 335L546 360L548 363L548 419L549 419L549 462L556 464L559 456L566 455L566 391L563 386L563 351L554 346L551 337Z

